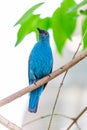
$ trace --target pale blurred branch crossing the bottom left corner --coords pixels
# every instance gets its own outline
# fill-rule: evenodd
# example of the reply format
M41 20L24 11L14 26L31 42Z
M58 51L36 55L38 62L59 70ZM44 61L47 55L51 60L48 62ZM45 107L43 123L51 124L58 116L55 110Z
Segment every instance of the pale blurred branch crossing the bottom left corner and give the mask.
M10 130L23 130L22 128L18 127L14 123L10 122L6 118L0 115L0 123L4 126L6 126Z

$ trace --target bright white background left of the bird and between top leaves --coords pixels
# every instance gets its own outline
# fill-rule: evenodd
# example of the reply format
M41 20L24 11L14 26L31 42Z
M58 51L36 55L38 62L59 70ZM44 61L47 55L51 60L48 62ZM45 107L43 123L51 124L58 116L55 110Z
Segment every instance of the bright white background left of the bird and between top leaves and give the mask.
M28 56L36 42L36 38L35 34L32 33L15 48L14 45L17 38L18 26L13 27L13 25L29 7L39 2L42 1L0 1L0 99L28 85ZM41 17L51 16L57 6L58 2L56 0L49 0L40 7L40 12L39 9L37 9L36 13L41 13ZM17 99L0 108L0 114L21 126L22 117L27 107L27 100L27 95ZM1 125L0 129L6 130L6 128L2 128Z

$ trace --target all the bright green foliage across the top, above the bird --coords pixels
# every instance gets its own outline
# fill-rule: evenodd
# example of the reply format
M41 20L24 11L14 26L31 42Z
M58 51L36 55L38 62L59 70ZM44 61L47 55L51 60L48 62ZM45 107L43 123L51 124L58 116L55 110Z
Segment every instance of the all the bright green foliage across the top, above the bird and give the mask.
M20 24L17 33L17 41L15 46L21 43L24 37L35 32L36 28L43 28L45 30L52 29L53 38L59 53L62 53L63 47L67 39L72 38L72 34L76 28L76 23L79 15L84 15L82 24L82 36L87 29L87 10L80 10L83 5L87 4L87 0L83 0L76 4L74 0L63 0L60 7L58 7L52 17L40 18L40 14L33 14L33 12L44 3L39 3L30 8L15 25ZM87 34L83 39L84 48L87 47Z

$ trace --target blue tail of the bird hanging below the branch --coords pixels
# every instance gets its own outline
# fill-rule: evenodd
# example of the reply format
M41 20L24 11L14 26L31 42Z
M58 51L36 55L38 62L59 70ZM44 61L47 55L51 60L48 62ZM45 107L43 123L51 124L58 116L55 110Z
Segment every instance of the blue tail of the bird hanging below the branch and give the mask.
M44 85L30 92L28 111L33 112L33 113L37 112L39 98L43 91L43 88L44 88Z

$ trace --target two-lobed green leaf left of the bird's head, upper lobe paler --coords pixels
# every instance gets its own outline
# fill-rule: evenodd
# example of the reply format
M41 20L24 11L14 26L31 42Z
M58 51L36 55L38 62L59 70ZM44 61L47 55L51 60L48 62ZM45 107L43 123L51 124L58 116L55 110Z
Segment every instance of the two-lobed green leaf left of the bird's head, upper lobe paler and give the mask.
M34 5L16 22L15 25L20 24L21 26L17 33L17 41L15 46L19 45L27 34L36 31L37 23L40 20L40 15L33 15L32 13L42 4L43 3Z

